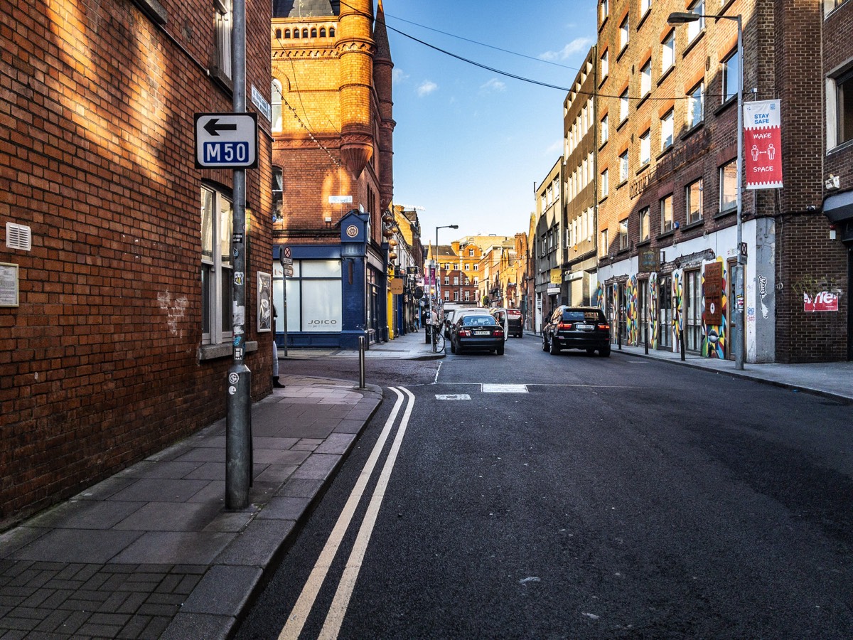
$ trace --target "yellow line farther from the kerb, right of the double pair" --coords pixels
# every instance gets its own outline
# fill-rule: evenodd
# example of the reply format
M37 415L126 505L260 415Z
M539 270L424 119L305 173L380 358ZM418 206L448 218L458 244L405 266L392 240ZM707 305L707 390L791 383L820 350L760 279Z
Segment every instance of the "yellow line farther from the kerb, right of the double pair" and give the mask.
M391 472L394 469L394 463L397 462L397 453L400 451L400 445L403 444L403 436L406 434L406 427L409 426L409 417L412 415L412 408L415 406L415 396L406 387L400 387L403 392L409 396L409 404L406 405L406 410L403 413L403 419L400 421L400 427L397 429L397 437L391 445L391 451L388 452L388 458L385 461L385 466L382 468L382 473L379 476L379 481L376 483L373 497L370 498L368 504L368 512L364 515L362 527L358 530L356 544L352 547L350 559L346 561L344 574L340 579L338 591L334 594L332 606L328 610L326 621L322 625L320 636L322 640L334 640L338 637L340 625L344 622L346 608L350 605L352 591L356 587L358 572L362 568L364 554L367 551L370 536L373 533L376 524L376 518L379 515L379 509L382 506L382 499L385 497L385 490L388 487L388 481L391 480Z

